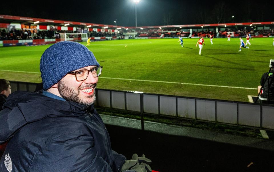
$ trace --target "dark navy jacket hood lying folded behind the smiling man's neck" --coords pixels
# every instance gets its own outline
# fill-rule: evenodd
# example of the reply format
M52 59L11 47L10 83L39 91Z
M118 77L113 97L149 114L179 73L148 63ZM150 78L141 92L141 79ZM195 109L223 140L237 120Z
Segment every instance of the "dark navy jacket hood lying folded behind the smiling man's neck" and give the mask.
M72 102L53 99L39 92L16 91L10 94L0 111L0 144L7 141L27 123L45 117L76 117L84 115L86 107Z

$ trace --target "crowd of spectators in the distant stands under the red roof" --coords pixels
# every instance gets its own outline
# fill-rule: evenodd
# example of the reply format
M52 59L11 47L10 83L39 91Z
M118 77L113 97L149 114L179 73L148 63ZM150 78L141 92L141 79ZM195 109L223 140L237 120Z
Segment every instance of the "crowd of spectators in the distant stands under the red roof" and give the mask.
M215 31L204 30L200 32L192 32L193 37L209 37L209 34L219 37L226 37L227 32L234 32L234 36L245 37L246 34L254 35L263 35L263 36L274 36L274 29L261 29L261 30L251 30L251 29L227 29L225 31L219 31L217 34ZM20 39L52 39L52 38L60 38L59 33L81 33L81 31L65 31L65 30L37 30L37 29L11 29L8 31L7 29L0 29L0 41L3 40L20 40ZM162 35L163 34L163 35ZM188 37L190 32L144 32L138 33L135 37ZM69 37L75 37L76 35L70 35ZM80 35L77 35L80 37ZM88 37L113 37L113 36L121 36L123 37L123 32L119 33L110 33L110 32L96 32L91 31L88 32Z

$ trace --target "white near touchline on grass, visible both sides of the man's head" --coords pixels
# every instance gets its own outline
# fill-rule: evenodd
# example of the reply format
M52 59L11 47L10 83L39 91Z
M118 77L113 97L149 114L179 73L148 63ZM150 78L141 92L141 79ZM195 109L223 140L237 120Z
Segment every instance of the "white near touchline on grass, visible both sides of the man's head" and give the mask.
M11 71L11 70L2 70L2 69L0 69L0 71L41 74L40 72ZM142 80L142 79L109 78L109 77L100 77L100 78L104 78L104 79L118 79L118 80L127 80L127 81L158 82L158 83L169 83L169 84L199 85L199 86L207 86L207 87L224 87L224 88L239 88L239 89L257 90L257 88L231 87L231 86L224 86L224 85L206 85L206 84L193 84L193 83L168 82L168 81L151 81L151 80Z

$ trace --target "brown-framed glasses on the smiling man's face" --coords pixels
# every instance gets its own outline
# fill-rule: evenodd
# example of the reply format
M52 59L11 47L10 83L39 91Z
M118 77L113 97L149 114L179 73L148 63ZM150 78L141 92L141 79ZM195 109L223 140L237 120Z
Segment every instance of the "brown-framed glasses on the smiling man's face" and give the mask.
M93 69L83 69L75 72L68 72L69 74L74 74L77 81L84 81L88 78L89 72L92 73L94 77L98 77L102 73L102 66L94 67Z

